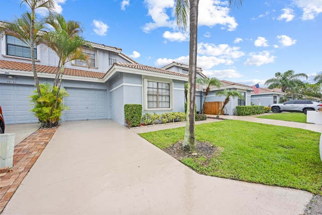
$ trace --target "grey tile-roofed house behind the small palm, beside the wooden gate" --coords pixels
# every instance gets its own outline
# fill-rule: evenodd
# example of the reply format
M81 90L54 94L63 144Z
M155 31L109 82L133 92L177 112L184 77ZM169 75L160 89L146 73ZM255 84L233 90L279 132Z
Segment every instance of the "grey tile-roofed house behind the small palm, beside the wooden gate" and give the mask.
M251 105L251 92L253 91L251 86L248 85L243 85L243 84L238 84L234 82L228 82L228 81L220 81L221 82L221 87L217 88L214 86L210 86L210 93L207 95L206 102L223 102L225 100L224 96L216 96L216 91L218 90L235 90L238 91L244 98L245 100L239 99L239 98L230 98L230 101L228 104L225 106L225 114L227 115L233 115L234 110L236 106L246 106L246 105ZM197 110L200 111L203 100L205 97L205 92L202 87L199 87L196 92L196 104L197 104Z

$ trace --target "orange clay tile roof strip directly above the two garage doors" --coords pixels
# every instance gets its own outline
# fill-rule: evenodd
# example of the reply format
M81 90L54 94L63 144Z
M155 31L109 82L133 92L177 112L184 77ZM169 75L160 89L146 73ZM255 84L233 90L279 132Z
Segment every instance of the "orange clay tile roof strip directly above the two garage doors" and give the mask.
M8 60L0 60L0 68L32 71L31 63L14 62L14 61L8 61ZM56 74L57 67L36 64L36 70L39 73ZM96 71L86 71L86 70L73 69L73 68L64 68L64 75L102 79L105 73L98 73Z

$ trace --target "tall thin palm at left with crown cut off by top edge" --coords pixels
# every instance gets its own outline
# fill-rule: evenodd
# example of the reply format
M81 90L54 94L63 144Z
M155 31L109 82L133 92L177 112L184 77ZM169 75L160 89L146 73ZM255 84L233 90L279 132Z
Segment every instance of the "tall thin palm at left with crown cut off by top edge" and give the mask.
M29 37L29 45L30 45L30 53L31 53L31 63L32 63L32 71L34 73L34 79L35 79L35 85L37 88L38 96L41 98L41 92L39 88L39 80L38 75L36 71L36 65L35 65L35 53L34 53L34 47L35 47L35 20L36 20L36 14L35 10L38 8L46 8L50 12L51 10L55 9L54 1L53 0L23 0L20 3L20 7L23 3L26 3L29 8L31 9L30 13L30 37Z

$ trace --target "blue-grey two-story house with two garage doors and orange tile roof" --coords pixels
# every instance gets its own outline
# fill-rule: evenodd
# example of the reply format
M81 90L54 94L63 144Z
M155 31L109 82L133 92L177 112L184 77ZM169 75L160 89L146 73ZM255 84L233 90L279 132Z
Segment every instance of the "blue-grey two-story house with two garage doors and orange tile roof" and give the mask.
M62 87L69 94L62 121L124 120L124 104L142 104L145 112L184 111L184 83L187 75L138 64L122 49L92 43L84 48L91 67L81 60L66 63ZM53 83L58 57L44 45L35 48L40 83ZM0 105L7 124L38 122L29 110L29 96L35 90L30 48L5 35L0 42Z

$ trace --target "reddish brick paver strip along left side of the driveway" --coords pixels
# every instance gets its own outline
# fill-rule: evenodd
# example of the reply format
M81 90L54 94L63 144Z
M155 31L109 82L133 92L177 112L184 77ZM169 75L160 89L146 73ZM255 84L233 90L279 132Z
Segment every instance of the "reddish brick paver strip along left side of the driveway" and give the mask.
M14 166L0 174L0 213L39 158L57 128L38 129L15 147Z

